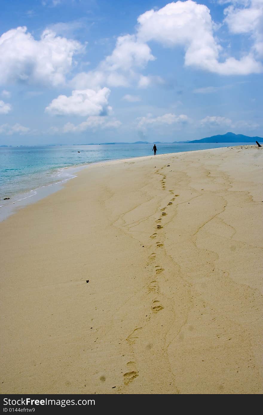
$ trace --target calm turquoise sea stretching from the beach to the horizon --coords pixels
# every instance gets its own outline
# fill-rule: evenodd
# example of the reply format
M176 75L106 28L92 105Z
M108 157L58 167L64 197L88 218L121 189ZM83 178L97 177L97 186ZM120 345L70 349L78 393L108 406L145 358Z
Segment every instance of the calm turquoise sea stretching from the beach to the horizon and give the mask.
M157 155L251 143L156 143ZM54 193L88 164L152 156L153 144L0 147L0 221Z

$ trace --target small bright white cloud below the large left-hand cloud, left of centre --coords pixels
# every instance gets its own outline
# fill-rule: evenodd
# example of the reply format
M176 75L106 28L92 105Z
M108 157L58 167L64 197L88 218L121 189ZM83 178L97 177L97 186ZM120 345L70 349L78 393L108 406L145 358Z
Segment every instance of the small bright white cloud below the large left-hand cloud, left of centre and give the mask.
M82 117L106 115L111 109L108 106L110 92L108 88L98 91L74 90L69 97L59 95L46 107L45 111L53 115L80 115Z

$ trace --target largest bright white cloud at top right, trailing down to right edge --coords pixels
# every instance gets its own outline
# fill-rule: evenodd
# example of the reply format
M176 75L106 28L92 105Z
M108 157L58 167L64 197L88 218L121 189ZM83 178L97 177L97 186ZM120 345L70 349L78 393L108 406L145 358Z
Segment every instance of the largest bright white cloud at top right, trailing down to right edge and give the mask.
M259 0L255 0L259 1ZM246 75L263 70L252 53L240 60L219 61L222 47L214 38L214 22L208 7L192 0L167 4L138 17L138 39L157 41L166 47L182 46L186 66L195 66L221 75Z

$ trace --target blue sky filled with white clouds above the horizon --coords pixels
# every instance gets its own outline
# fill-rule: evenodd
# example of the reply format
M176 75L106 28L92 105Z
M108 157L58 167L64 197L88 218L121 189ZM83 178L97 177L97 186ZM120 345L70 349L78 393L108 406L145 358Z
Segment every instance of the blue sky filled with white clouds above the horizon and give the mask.
M263 137L263 0L2 0L0 145Z

